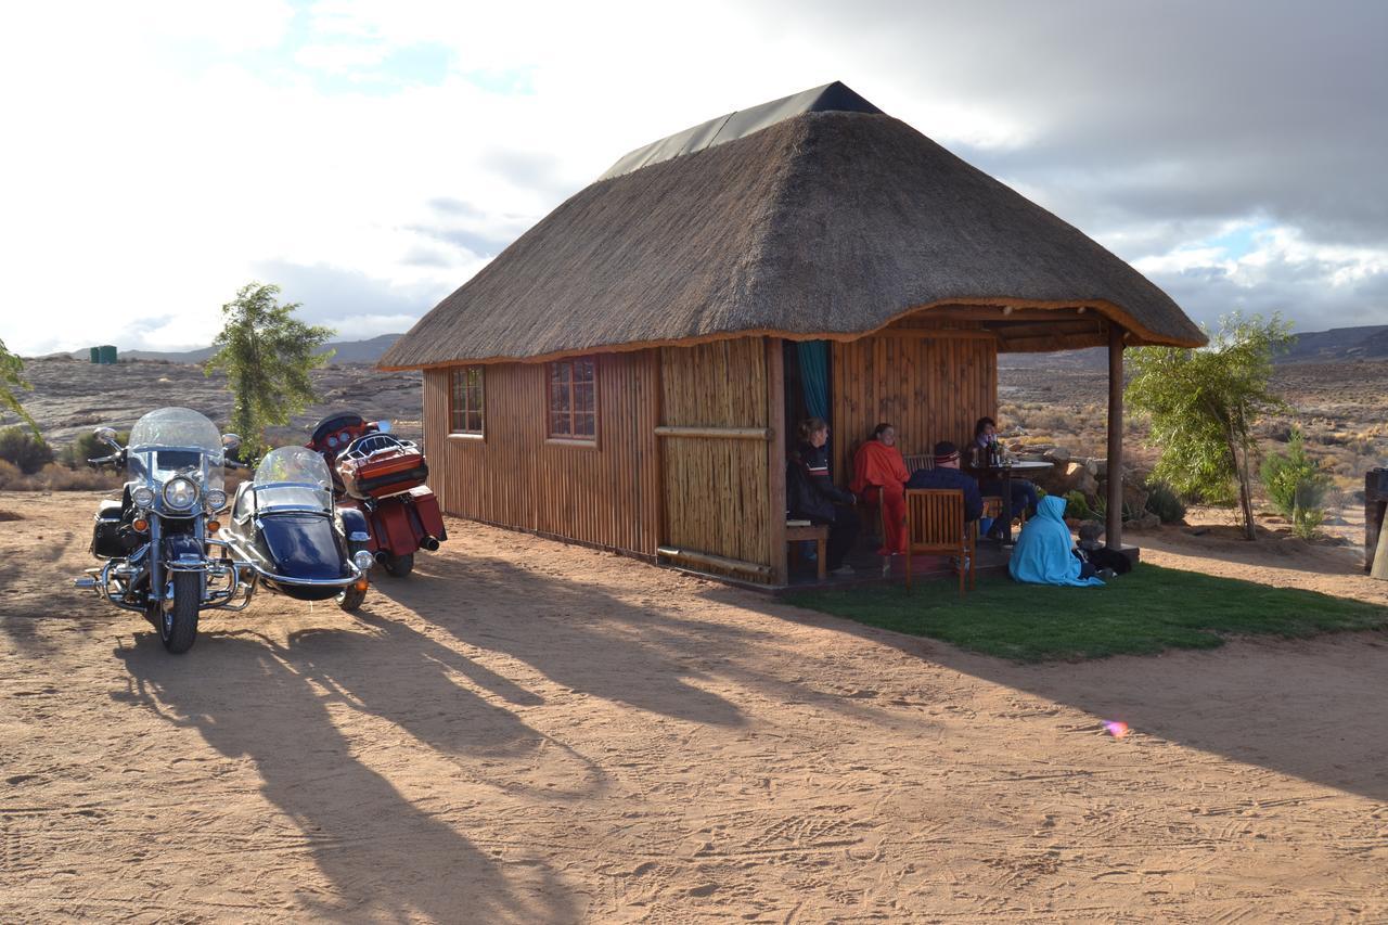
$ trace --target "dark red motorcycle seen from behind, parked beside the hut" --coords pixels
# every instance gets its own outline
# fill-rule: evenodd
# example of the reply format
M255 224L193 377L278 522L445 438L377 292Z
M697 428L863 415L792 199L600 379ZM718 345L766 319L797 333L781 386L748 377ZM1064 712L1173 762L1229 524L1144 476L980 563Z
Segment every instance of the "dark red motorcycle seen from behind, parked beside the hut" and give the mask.
M448 539L439 499L429 490L429 465L419 447L390 433L387 421L333 414L314 428L308 449L333 474L339 507L357 508L369 524L368 549L387 575L404 578L415 551L434 551Z

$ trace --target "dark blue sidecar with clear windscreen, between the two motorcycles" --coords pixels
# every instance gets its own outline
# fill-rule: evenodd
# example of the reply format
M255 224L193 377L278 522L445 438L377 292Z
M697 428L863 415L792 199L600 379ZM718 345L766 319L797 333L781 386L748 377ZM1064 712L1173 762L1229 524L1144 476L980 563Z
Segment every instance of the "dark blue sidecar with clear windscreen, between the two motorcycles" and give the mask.
M335 510L332 486L312 450L271 450L236 490L222 538L261 585L297 600L336 597L351 611L366 596L371 538L361 511Z

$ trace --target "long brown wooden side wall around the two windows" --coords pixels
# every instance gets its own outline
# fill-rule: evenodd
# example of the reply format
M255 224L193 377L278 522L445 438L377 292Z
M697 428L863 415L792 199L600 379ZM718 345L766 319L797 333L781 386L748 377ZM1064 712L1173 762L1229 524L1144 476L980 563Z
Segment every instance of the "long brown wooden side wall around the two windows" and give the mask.
M545 364L486 368L486 436L447 436L448 371L425 372L430 486L450 514L640 556L659 544L659 357L601 354L597 447L547 440Z

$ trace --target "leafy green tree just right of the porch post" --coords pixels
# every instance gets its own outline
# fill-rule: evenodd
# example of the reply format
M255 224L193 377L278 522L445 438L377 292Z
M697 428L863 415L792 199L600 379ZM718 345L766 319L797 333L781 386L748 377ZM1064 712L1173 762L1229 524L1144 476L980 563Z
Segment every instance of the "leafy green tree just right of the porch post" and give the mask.
M1133 378L1126 399L1152 429L1160 450L1153 475L1187 496L1233 500L1248 539L1253 532L1249 479L1252 426L1259 415L1281 411L1273 394L1273 357L1291 346L1291 325L1280 315L1234 312L1199 350L1140 347L1131 351Z

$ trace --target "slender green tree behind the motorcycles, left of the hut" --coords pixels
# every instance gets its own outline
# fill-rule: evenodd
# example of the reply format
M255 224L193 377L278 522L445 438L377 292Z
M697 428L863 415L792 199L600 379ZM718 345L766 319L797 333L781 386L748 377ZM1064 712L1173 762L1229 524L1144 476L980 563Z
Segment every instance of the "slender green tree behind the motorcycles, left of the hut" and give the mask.
M279 286L247 283L222 306L222 332L204 364L226 372L235 396L232 431L243 439L242 456L251 460L265 450L265 428L283 426L315 396L308 374L332 357L319 353L332 328L305 325L293 317L300 303L279 304Z

